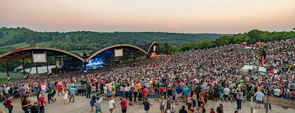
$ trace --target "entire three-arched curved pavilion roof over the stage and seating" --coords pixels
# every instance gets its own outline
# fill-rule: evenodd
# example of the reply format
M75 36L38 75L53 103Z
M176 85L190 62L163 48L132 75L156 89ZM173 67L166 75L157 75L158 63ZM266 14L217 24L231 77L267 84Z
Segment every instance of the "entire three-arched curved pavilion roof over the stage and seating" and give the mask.
M135 52L137 54L148 54L150 49L156 46L156 48L161 49L158 42L151 42L147 44L141 44L137 46L129 45L129 44L118 44L118 45L112 45L109 47L105 47L103 49L96 50L94 52L88 53L87 56L83 56L77 53L68 52L62 49L52 48L52 47L26 47L26 48L20 48L15 49L10 52L6 52L4 54L0 54L0 62L5 61L13 61L13 60L19 60L19 59L27 59L32 58L32 53L47 53L47 56L73 56L77 59L80 59L81 61L87 61L91 59L92 57L96 56L97 54L107 50L107 49L123 49L123 52L132 53ZM152 48L153 49L153 48Z

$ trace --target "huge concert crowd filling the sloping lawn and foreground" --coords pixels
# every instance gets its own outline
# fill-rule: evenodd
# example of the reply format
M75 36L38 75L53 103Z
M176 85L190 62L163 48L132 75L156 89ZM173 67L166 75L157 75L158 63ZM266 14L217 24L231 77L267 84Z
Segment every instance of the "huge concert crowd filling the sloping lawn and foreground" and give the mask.
M255 108L258 106L258 109L264 103L265 95L294 100L294 39L254 44L252 47L249 52L232 52L239 47L229 45L206 51L155 57L137 62L135 66L122 65L130 69L121 71L113 71L121 65L112 65L88 70L87 74L75 71L45 78L6 81L0 83L0 96L6 98L4 102L9 113L13 109L12 102L19 101L19 98L25 113L44 113L46 104L55 102L56 96L60 95L63 96L64 104L70 104L75 102L75 96L85 94L86 98L91 99L91 112L95 108L96 113L102 111L101 97L107 100L106 104L112 113L116 108L116 96L119 97L123 113L127 111L127 102L130 106L138 102L148 113L152 106L151 99L160 103L161 113L205 113L206 110L210 113L223 113L222 103L216 111L214 108L205 109L204 105L209 99L236 101L238 112L241 103L246 103L246 95L256 98ZM261 67L263 49L266 51L264 64L273 73L266 76L255 73L239 75L244 65ZM30 101L33 93L37 94L38 99L34 105ZM186 103L187 109L182 106L182 109L176 111L175 106L180 102ZM271 109L271 105L268 107Z

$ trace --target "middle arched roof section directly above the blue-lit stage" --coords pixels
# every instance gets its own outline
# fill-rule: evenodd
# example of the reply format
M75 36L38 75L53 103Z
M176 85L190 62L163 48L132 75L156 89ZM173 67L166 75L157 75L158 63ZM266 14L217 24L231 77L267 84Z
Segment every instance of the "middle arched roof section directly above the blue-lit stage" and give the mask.
M87 61L89 59L91 59L92 57L94 57L95 55L99 54L100 52L103 52L106 49L110 49L110 48L114 48L114 47L122 47L122 48L124 48L124 47L132 47L132 48L138 49L137 52L147 54L147 52L145 52L145 50L143 50L140 47L137 47L137 46L134 46L134 45L129 45L129 44L118 44L118 45L112 45L112 46L109 46L109 47L105 47L103 49L99 49L99 50L91 53L91 55L87 58Z

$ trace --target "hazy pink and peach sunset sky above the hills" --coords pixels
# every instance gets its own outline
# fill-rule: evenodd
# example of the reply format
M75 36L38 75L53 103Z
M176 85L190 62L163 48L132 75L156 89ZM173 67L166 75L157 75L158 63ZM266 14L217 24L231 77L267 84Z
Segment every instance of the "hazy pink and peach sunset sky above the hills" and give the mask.
M294 0L1 0L0 27L39 32L292 31Z

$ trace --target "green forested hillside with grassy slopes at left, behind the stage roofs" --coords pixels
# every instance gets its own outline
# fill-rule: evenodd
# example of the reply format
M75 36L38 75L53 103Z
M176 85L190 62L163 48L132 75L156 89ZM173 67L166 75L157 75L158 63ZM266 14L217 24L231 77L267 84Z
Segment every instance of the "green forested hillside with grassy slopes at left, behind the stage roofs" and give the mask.
M172 46L182 43L216 40L223 35L210 33L168 33L168 32L35 32L27 28L7 28L0 30L0 47L8 50L27 46L47 46L69 51L81 48L101 49L114 44L145 44L168 42Z

